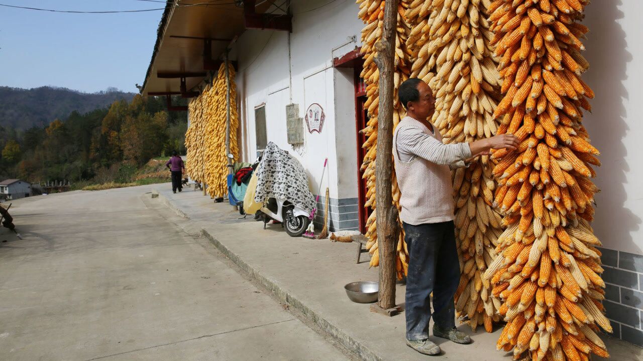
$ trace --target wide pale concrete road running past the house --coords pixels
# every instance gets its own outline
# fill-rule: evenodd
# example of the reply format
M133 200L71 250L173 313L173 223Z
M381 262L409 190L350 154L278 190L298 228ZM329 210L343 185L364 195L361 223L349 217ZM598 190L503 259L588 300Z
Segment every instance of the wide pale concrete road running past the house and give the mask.
M14 201L24 240L0 229L0 360L349 360L150 189Z

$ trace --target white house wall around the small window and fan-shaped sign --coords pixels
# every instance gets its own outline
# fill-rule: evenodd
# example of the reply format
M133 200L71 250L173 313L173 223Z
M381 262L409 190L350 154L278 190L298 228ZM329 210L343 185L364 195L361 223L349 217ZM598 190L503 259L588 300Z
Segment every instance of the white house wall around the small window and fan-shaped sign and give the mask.
M327 5L321 6L324 4ZM293 1L292 9L292 78L285 31L248 30L239 37L231 54L239 61L237 92L242 158L245 161L255 159L255 107L266 103L268 141L288 150L302 162L309 172L311 191L317 193L323 160L328 157L329 166L321 184L322 195L328 186L331 198L357 197L352 71L349 76L334 69L332 58L359 46L358 42L346 44L348 37L356 36L359 41L362 28L357 17L359 8L352 0L334 3L298 0ZM342 100L339 108L338 96ZM287 143L285 105L289 103L299 105L302 118L312 103L319 103L325 112L321 134L310 134L304 125L305 145L296 148Z

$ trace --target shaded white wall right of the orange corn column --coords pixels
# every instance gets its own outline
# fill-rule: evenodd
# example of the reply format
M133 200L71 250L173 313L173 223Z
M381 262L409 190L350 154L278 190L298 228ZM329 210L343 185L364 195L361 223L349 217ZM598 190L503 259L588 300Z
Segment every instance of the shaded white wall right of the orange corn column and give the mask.
M583 123L602 162L593 228L605 248L643 254L643 1L593 1L585 13L595 98Z

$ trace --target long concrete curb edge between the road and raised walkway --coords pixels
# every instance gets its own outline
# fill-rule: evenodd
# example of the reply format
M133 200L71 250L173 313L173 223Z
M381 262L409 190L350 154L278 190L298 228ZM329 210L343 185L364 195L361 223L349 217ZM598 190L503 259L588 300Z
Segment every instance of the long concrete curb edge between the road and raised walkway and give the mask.
M172 202L163 194L159 193L159 199L165 204L169 209L174 211L177 215L182 216L183 218L190 219L185 212L178 209ZM217 249L227 258L230 258L231 261L237 265L240 269L248 274L248 276L257 280L262 286L266 287L273 295L275 295L280 301L301 312L304 317L309 321L314 322L321 330L328 333L333 337L337 342L342 346L347 348L349 351L355 353L362 360L365 361L388 361L384 358L381 358L379 355L374 353L370 348L363 344L360 340L355 339L351 335L345 333L341 328L338 328L336 325L327 321L320 315L320 313L315 312L309 306L302 303L297 297L293 297L288 290L280 286L276 281L270 279L269 277L264 276L260 271L255 270L251 265L244 261L239 255L233 253L226 247L223 243L219 242L213 234L210 234L206 229L201 229L201 233L208 238L208 240L215 246Z

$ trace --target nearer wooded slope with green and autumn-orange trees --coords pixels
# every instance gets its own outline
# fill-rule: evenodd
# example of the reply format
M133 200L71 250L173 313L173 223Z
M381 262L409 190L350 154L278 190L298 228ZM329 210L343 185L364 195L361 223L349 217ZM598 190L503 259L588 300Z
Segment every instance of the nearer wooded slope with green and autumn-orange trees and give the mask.
M186 112L168 113L165 98L138 94L44 126L0 127L0 179L128 182L150 159L185 152L186 127Z

